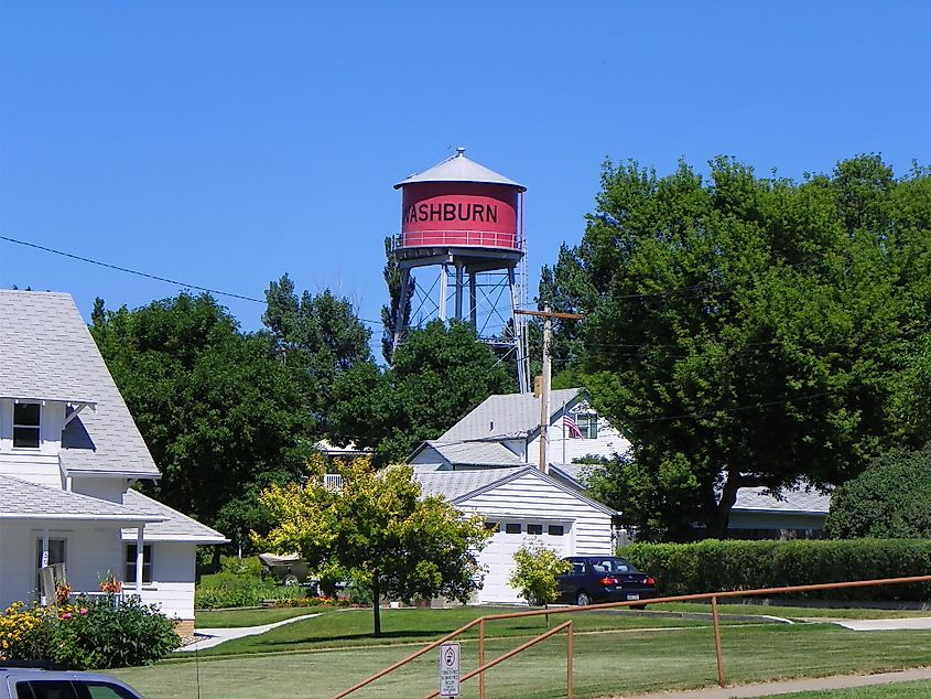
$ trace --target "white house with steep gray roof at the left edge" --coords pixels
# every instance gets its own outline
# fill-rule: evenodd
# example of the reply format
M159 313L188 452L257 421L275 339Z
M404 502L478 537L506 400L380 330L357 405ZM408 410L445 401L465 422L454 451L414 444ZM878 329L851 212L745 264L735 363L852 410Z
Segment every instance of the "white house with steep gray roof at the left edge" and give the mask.
M0 604L65 563L75 591L116 573L193 631L196 546L227 539L130 488L159 476L72 298L0 291Z

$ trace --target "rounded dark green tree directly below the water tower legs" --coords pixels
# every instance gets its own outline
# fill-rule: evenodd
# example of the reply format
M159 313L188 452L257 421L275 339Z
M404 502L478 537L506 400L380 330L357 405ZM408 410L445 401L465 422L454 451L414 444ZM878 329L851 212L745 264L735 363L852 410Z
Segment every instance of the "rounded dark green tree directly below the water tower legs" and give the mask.
M334 441L377 449L380 464L403 460L488 396L512 389L468 323L433 321L411 331L393 359L386 370L365 363L340 376L329 416Z

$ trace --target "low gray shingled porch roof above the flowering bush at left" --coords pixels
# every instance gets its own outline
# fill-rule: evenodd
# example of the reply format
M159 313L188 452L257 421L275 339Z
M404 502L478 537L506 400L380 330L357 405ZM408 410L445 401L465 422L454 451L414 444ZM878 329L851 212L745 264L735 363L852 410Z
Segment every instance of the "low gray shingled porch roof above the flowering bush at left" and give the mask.
M144 503L120 505L0 475L0 519L93 519L155 523L163 515Z

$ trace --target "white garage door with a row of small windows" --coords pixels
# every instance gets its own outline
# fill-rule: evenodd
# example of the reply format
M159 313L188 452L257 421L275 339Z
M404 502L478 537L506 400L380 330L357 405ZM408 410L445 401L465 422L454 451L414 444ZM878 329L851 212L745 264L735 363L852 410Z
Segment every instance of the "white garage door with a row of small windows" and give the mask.
M491 521L491 520L489 520ZM495 520L498 530L481 551L481 563L486 567L485 584L478 593L478 601L523 602L516 590L508 584L513 570L513 555L526 540L538 539L560 556L572 556L572 523L555 519L501 519Z

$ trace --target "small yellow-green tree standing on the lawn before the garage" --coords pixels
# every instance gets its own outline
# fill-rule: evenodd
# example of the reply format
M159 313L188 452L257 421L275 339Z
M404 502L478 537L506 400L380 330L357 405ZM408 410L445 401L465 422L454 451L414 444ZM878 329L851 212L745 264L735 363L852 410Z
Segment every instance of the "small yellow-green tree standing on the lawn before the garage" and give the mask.
M376 472L370 460L357 459L339 472L340 491L320 477L267 490L261 499L277 525L261 545L300 551L312 569L348 571L371 592L376 636L382 596L466 602L477 587L476 556L490 536L481 518L464 518L441 497L421 498L408 466Z

